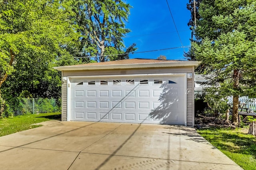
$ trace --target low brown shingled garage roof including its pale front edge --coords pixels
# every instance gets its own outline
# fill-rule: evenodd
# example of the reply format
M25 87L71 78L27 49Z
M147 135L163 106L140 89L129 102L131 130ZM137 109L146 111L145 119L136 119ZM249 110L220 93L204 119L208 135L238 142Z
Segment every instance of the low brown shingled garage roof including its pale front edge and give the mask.
M59 66L54 69L63 70L99 70L121 68L150 68L150 67L174 67L174 66L198 66L198 61L156 60L156 59L126 59L106 61L101 63L87 63L72 66Z

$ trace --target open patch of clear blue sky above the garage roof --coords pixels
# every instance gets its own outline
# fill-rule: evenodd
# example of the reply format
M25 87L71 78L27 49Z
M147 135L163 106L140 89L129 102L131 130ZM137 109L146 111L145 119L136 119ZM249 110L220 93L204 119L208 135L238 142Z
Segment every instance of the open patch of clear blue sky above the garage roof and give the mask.
M126 47L136 43L138 50L152 51L182 47L176 32L166 0L126 0L133 6L126 28L131 29L124 38ZM187 10L188 0L168 0L172 16L180 34L182 44L190 46L191 31L187 25L190 19L190 11ZM188 51L188 47L184 48ZM168 60L184 60L183 48L164 51L131 54L130 59L156 59L165 55Z

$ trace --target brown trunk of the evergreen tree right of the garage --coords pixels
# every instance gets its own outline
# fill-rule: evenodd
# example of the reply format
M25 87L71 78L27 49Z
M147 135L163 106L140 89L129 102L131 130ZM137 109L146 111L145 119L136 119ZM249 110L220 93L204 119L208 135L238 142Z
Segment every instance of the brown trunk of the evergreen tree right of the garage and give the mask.
M239 70L234 70L233 74L234 84L233 89L238 90L239 87ZM233 112L232 112L232 124L238 125L238 95L233 95Z

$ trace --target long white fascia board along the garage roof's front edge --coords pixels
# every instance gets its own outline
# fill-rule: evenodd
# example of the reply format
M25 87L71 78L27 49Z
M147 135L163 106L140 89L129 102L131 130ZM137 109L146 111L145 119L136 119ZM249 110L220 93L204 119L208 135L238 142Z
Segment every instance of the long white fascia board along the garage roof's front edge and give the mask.
M139 64L112 64L95 66L59 66L54 69L59 71L67 70L103 70L103 69L125 69L125 68L154 68L154 67L177 67L177 66L198 66L198 61L177 61L170 63L139 63Z

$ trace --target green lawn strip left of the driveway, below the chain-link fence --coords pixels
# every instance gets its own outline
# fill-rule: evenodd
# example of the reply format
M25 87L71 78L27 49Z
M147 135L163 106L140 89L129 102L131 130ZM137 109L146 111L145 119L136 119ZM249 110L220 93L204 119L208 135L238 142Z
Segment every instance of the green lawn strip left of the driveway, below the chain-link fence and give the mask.
M25 131L40 125L32 125L42 121L48 121L51 119L60 119L61 113L40 113L31 115L21 115L12 118L0 119L0 136L9 135L12 133Z

